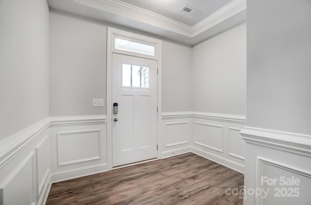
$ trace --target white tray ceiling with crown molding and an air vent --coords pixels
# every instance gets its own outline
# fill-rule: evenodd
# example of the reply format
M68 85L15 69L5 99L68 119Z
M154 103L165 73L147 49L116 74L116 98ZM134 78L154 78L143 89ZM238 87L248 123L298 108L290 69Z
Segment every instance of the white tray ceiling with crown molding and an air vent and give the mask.
M188 45L246 20L246 0L48 0L48 4L111 27L134 29ZM195 12L183 11L185 5Z

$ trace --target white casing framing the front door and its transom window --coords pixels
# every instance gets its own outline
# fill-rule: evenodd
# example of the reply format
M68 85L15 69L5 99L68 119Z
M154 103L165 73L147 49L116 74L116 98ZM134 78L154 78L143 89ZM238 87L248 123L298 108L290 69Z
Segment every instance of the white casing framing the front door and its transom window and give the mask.
M155 46L155 56L149 56L139 53L133 53L129 51L116 50L114 48L115 37L121 37L123 39L132 40L138 43ZM160 142L160 122L161 122L161 89L162 89L162 41L152 37L134 34L131 32L122 31L114 28L107 28L107 67L106 67L106 116L107 116L107 167L108 170L112 170L112 54L124 54L134 57L152 59L157 61L157 144ZM160 146L158 146L160 148ZM160 156L160 149L157 150L157 158Z

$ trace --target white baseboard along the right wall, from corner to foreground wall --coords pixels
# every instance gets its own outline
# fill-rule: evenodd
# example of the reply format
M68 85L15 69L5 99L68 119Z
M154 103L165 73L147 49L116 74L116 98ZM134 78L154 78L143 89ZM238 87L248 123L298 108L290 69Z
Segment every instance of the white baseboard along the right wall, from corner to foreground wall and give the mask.
M221 164L227 168L230 168L231 170L235 170L235 171L238 171L238 172L244 174L244 165L242 165L240 163L226 159L226 158L224 158L222 156L218 156L216 154L209 153L207 151L201 150L200 148L197 148L194 146L191 146L191 152L194 154L198 154L204 158L207 158L211 161L214 161L218 164Z

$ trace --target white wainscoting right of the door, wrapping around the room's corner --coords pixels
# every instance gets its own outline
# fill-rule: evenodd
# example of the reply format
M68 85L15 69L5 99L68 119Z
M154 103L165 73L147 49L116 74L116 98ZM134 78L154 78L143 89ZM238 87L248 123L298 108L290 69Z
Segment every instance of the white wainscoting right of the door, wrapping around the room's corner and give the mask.
M240 115L162 113L158 158L193 152L243 173L245 143L239 131L244 125L245 116Z

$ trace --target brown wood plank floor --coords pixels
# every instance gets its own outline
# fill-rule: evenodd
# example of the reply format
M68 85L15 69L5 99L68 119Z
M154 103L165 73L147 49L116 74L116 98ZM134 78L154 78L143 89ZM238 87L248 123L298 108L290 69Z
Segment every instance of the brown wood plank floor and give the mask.
M243 177L188 153L54 183L46 205L242 205Z

